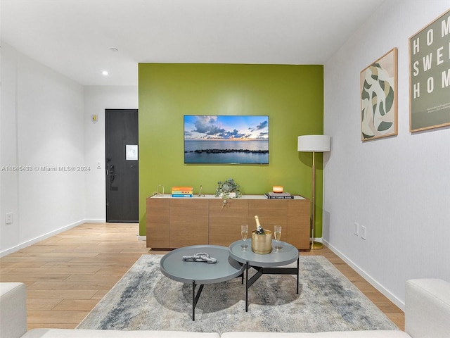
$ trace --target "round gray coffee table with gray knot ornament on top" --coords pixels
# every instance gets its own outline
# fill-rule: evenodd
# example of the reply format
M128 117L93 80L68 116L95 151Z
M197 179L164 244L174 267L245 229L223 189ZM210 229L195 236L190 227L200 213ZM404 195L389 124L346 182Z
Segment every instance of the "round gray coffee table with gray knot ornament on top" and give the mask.
M217 263L183 261L183 256L206 252L217 259ZM197 305L204 284L213 284L232 280L242 276L245 267L229 256L229 248L218 245L192 245L175 249L161 258L160 270L172 280L192 284L192 320L195 320ZM200 285L195 295L195 288Z

